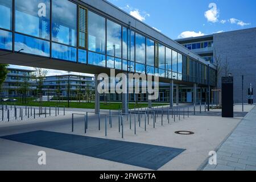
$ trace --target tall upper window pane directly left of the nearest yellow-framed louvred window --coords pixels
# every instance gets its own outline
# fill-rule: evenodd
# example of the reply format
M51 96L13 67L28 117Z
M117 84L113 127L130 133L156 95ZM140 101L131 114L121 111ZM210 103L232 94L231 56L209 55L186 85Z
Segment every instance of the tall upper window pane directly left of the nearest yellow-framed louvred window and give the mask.
M52 1L52 40L76 46L77 5L68 0Z

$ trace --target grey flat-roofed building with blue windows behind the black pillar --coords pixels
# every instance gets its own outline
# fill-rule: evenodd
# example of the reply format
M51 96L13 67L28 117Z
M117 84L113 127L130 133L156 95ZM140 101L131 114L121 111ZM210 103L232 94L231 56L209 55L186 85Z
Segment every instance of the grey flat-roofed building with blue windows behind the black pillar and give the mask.
M221 77L234 77L234 102L242 102L242 75L244 76L243 102L247 102L250 84L256 88L256 28L221 32L213 35L176 40L178 43L216 64L220 57L218 88Z

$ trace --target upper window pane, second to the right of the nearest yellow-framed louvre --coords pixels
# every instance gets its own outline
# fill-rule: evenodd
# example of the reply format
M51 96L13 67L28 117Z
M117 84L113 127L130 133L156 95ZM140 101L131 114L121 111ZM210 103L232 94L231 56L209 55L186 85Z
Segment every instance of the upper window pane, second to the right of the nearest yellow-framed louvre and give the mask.
M107 20L107 54L114 57L121 57L122 43L121 25Z

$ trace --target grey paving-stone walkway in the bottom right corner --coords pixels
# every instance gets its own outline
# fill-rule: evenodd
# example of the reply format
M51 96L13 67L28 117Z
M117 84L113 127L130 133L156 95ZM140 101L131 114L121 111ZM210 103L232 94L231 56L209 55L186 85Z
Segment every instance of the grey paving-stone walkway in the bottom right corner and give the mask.
M217 151L217 165L204 171L256 171L256 106Z

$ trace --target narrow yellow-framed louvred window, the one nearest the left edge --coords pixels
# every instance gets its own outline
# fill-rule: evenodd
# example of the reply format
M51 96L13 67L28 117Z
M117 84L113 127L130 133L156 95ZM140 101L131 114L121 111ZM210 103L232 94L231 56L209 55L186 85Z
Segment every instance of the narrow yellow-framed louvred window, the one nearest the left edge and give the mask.
M87 39L87 10L79 7L79 46L86 48Z

